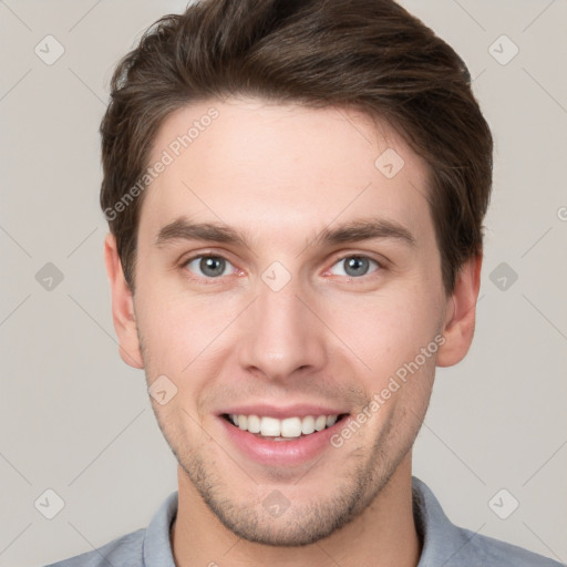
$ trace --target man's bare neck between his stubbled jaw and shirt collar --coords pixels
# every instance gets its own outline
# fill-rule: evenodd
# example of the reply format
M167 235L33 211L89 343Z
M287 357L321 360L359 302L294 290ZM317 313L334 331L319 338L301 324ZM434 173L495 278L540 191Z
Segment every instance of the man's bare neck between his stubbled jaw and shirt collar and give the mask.
M412 508L411 453L371 505L343 528L301 547L272 547L247 542L227 529L178 467L178 509L172 549L178 566L246 565L260 567L415 567L421 542Z

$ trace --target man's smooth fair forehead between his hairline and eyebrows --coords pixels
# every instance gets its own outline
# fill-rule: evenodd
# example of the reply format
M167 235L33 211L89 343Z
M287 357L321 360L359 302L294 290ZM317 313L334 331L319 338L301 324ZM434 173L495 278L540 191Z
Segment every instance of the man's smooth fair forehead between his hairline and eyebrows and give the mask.
M372 215L432 229L427 166L385 123L344 107L210 100L167 117L140 230L215 220L267 238ZM155 167L154 167L155 169Z

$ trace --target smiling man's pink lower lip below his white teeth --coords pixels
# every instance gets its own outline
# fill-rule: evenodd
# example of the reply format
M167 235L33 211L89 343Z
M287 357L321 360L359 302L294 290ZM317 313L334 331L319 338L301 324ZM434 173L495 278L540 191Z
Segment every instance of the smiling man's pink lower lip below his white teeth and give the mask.
M291 441L270 441L244 431L218 416L230 441L246 456L266 465L301 464L319 456L326 449L333 449L330 437L344 426L349 416L322 431L295 437Z

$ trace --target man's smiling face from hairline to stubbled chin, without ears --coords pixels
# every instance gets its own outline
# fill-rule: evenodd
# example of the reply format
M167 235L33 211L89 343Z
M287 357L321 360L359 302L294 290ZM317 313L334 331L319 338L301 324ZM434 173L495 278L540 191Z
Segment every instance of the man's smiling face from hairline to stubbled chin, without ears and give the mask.
M123 349L220 522L316 542L409 458L447 348L426 164L364 114L249 99L171 115L151 163L164 152Z

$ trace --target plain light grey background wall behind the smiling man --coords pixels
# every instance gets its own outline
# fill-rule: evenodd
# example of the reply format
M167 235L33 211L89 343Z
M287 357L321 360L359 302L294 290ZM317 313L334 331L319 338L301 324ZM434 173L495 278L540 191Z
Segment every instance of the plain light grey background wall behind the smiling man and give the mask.
M437 373L414 474L454 523L565 563L567 1L402 3L466 61L496 141L476 337ZM117 354L97 127L115 62L184 6L0 1L0 566L145 527L176 489L143 372ZM48 34L65 50L52 65L34 52ZM502 34L519 49L507 64ZM63 275L51 290L35 278L47 262ZM64 501L53 519L53 497L34 506L48 488ZM501 519L508 494L519 506Z

